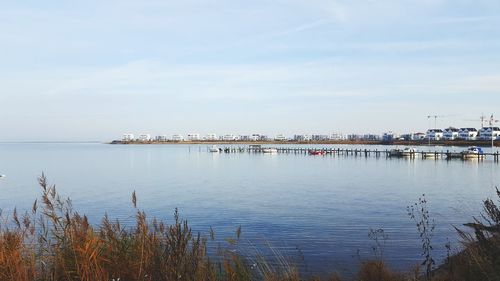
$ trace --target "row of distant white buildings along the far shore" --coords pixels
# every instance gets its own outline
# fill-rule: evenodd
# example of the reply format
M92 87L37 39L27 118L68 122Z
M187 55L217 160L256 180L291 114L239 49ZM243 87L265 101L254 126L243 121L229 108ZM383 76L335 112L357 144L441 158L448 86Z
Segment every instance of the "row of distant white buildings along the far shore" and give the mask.
M296 134L287 136L285 134L277 134L269 136L265 134L207 134L201 135L198 133L189 133L186 135L174 134L152 136L148 133L134 135L132 133L123 134L121 140L114 141L115 143L147 143L147 142L336 142L336 141L366 141L366 142L393 142L393 141L475 141L475 140L500 140L500 128L489 126L476 128L454 128L446 129L429 129L425 133L405 133L398 134L396 132L386 132L381 135L377 134L341 134L332 133L326 134Z

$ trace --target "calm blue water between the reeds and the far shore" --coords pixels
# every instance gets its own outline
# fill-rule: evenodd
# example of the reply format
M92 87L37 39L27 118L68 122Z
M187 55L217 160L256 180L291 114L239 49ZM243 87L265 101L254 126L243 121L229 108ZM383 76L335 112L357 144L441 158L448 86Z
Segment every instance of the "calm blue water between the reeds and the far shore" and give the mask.
M461 150L438 148L446 149ZM435 255L443 258L446 239L457 238L452 225L477 215L500 183L500 165L491 161L211 154L206 145L4 143L0 208L31 208L42 172L94 222L105 212L130 222L136 190L139 207L150 216L168 221L178 207L195 230L207 233L211 226L220 239L241 225L243 244L303 259L303 270L311 273L345 274L372 257L370 229L388 234L384 255L394 268L420 261L406 206L423 193L437 224Z

